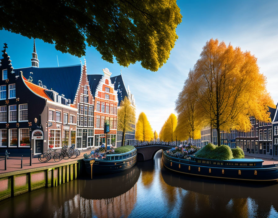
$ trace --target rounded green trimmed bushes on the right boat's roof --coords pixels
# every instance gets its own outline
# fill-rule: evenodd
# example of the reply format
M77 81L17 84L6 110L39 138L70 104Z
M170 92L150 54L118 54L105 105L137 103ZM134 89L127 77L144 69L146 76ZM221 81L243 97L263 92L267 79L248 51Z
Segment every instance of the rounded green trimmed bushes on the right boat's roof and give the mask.
M196 157L216 160L231 160L235 158L244 158L244 152L240 147L234 149L234 154L231 148L227 145L216 146L212 143L208 143L202 149L195 153ZM242 156L243 153L243 156Z

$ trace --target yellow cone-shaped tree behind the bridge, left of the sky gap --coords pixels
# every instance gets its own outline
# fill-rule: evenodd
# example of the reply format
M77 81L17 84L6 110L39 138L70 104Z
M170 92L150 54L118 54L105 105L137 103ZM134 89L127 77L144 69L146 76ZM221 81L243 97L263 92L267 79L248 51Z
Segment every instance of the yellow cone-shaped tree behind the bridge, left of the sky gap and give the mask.
M138 117L135 129L135 139L139 141L151 141L154 138L154 133L151 129L150 122L144 112Z

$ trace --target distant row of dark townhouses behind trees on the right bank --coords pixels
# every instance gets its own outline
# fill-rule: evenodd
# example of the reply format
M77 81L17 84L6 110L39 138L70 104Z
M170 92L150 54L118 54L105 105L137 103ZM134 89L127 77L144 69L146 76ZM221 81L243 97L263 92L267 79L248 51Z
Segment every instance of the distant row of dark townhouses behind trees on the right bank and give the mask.
M230 133L227 133L225 131L220 131L221 144L228 145L231 148L239 146L247 153L278 156L277 107L278 104L276 109L269 107L271 119L270 123L264 123L256 120L254 117L250 117L252 128L249 132L231 130ZM216 129L211 129L210 127L202 129L200 141L201 147L207 145L210 142L216 145Z

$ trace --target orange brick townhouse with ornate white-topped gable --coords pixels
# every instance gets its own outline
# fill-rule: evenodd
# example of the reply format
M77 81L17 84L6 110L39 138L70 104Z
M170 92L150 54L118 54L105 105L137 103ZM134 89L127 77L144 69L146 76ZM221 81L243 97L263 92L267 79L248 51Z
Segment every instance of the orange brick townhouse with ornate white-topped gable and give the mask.
M112 73L108 68L102 69L102 71L104 75L88 75L92 94L95 98L95 146L100 146L102 143L116 146L118 94L110 79ZM104 134L105 122L110 124L107 142L105 142Z

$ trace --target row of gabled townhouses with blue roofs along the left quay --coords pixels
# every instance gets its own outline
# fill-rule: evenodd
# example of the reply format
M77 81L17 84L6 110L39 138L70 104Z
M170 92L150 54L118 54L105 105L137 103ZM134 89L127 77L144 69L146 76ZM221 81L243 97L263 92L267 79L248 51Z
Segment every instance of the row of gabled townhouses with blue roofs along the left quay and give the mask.
M122 74L88 75L86 60L73 66L39 68L35 40L31 67L14 69L4 44L0 60L0 153L34 155L48 148L74 144L78 149L105 142L104 124L110 124L107 144L121 146L117 108L128 97ZM126 144L134 144L128 133ZM118 135L118 136L117 136Z

